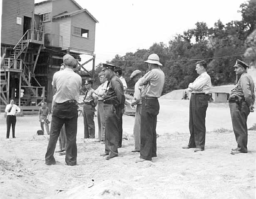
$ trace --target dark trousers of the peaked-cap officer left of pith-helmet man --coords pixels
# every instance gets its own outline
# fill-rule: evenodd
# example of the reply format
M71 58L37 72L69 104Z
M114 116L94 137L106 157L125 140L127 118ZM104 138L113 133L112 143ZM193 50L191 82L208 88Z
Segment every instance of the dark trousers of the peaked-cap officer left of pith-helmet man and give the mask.
M110 157L118 155L118 114L117 109L112 104L104 104L105 116L105 153Z

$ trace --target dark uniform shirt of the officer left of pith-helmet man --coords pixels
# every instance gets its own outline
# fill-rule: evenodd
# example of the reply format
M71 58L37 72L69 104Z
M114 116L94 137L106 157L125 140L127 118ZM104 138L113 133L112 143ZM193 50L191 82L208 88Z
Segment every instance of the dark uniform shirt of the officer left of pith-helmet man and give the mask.
M102 96L102 99L117 99L121 107L124 106L124 87L121 80L116 75L108 81L107 90Z

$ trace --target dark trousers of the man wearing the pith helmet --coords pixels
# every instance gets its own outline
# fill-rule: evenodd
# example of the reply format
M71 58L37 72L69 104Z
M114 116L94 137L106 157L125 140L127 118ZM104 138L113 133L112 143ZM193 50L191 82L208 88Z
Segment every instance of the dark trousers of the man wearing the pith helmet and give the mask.
M142 115L140 126L140 158L152 160L157 157L157 115L158 99L142 99Z

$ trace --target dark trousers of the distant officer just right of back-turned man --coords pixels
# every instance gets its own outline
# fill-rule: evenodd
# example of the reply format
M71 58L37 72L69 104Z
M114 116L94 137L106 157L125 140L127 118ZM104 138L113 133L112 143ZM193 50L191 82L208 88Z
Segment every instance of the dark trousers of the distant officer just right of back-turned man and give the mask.
M84 138L95 138L94 107L84 104Z

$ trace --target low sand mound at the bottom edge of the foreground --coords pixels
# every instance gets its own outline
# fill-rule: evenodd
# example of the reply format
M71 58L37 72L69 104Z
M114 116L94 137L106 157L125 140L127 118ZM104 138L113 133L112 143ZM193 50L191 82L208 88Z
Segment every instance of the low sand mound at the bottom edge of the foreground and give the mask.
M123 180L104 180L82 184L68 191L60 192L56 199L107 199L126 198L134 192L132 186Z

